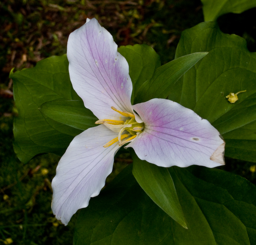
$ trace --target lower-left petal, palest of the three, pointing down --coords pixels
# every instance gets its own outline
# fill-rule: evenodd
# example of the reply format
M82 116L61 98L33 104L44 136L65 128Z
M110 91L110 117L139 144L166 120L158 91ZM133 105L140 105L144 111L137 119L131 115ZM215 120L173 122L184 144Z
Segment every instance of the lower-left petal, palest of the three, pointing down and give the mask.
M115 137L117 134L104 125L89 128L73 139L62 156L52 180L52 212L64 225L105 185L120 146L103 145Z

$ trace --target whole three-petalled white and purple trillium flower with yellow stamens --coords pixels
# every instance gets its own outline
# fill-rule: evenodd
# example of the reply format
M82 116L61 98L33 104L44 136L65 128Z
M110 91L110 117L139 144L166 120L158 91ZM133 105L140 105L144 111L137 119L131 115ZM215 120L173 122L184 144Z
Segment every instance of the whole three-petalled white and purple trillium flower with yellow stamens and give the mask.
M224 164L219 132L192 110L158 98L131 104L128 63L96 19L70 34L67 58L71 83L99 125L74 138L52 180L52 211L64 225L99 194L126 143L161 167Z

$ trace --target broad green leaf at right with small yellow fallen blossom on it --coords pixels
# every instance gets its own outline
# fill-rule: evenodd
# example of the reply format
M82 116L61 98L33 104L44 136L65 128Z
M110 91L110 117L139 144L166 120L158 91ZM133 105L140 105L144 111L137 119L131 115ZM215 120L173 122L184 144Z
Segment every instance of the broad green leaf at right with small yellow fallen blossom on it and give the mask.
M225 156L256 162L256 53L248 51L243 38L222 33L215 22L182 33L176 57L197 51L209 54L180 78L169 99L219 130ZM229 93L243 90L235 103L227 100Z

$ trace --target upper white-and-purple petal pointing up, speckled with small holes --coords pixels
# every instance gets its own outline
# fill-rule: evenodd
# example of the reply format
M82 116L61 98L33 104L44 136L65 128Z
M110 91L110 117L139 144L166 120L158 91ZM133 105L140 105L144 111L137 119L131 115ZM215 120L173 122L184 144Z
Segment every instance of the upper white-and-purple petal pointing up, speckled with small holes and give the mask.
M128 63L95 18L69 35L67 58L73 88L96 117L119 120L111 107L133 112Z

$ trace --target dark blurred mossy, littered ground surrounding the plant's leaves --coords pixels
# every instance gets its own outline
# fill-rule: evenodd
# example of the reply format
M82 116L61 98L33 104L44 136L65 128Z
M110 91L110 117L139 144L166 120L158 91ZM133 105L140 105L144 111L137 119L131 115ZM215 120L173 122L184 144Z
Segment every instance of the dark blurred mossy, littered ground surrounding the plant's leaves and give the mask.
M232 17L233 16L233 17ZM234 17L235 16L235 17ZM66 53L70 32L96 17L120 45L148 44L162 64L174 59L183 30L203 21L199 0L1 0L0 2L0 244L71 244L76 216L67 227L51 212L50 182L59 158L48 154L20 163L13 151L13 67L23 69ZM240 20L236 24L236 18ZM255 49L255 9L218 20L225 33L243 36ZM115 160L110 182L131 162ZM255 164L226 159L223 168L256 183Z

